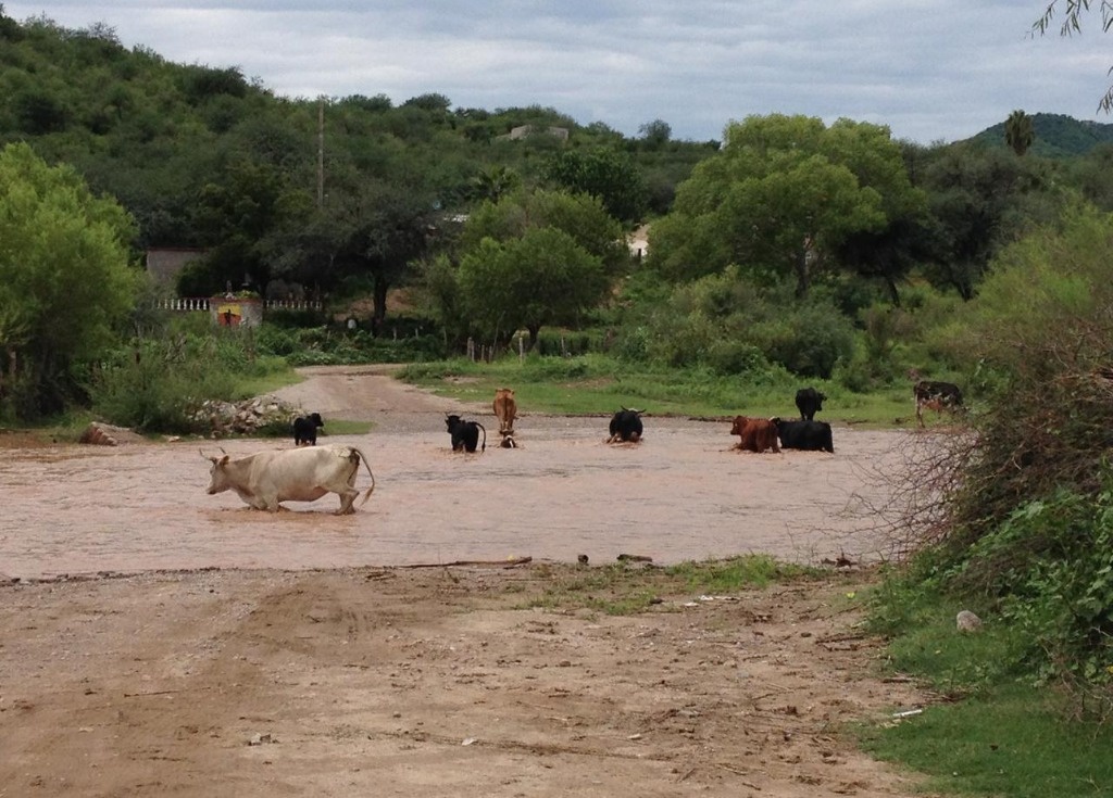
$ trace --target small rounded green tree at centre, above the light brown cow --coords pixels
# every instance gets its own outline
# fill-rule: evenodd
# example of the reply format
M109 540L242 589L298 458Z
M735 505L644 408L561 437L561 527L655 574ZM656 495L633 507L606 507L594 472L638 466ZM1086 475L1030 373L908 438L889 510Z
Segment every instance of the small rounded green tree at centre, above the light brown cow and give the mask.
M520 238L485 238L460 263L469 318L496 341L515 330L538 342L546 325L573 325L610 287L602 260L556 228L530 228Z

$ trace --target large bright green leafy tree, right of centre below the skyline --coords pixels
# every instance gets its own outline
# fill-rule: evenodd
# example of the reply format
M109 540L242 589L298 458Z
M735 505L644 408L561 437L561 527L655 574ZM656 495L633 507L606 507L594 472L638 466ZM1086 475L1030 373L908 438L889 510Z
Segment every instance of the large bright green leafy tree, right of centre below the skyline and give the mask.
M805 296L851 236L923 208L887 128L808 117L750 117L678 189L650 232L650 263L674 280L738 265L795 280Z

